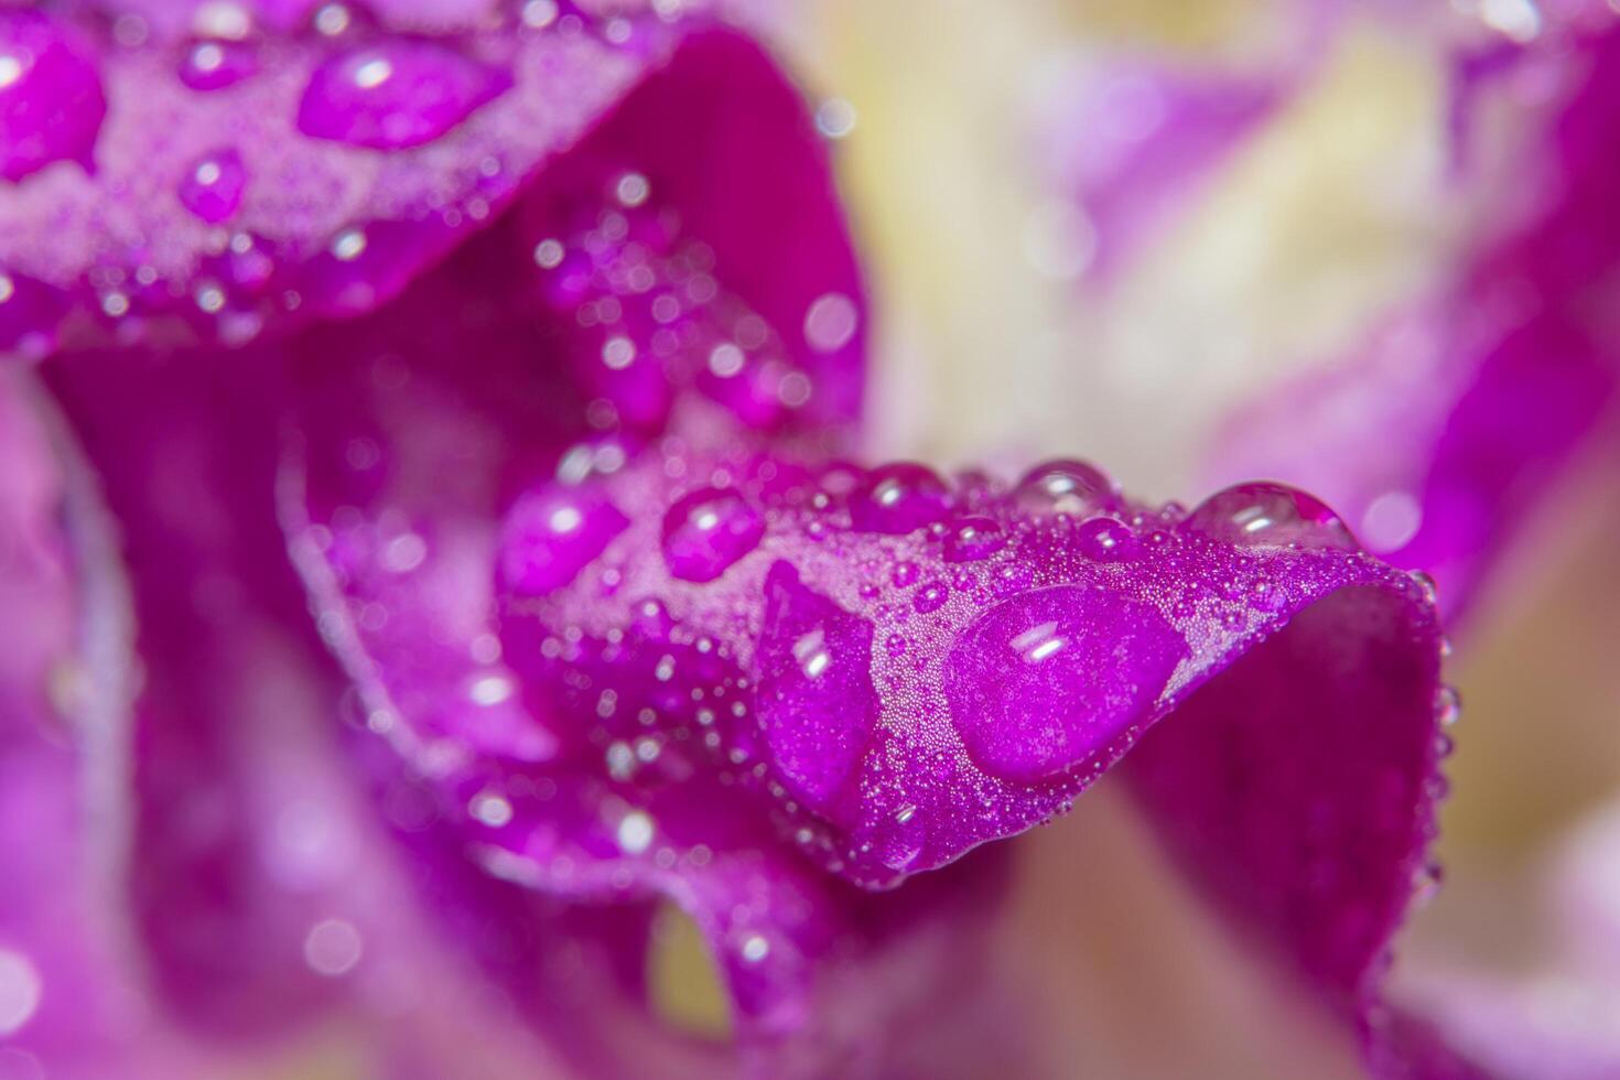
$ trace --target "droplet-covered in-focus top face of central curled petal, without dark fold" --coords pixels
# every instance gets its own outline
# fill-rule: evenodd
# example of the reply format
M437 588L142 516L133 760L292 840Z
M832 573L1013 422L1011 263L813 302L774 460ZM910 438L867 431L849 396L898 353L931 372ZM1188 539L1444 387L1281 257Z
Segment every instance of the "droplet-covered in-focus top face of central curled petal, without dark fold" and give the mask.
M588 717L611 691L706 751L868 884L1048 816L1051 792L1095 779L1199 670L1345 575L1393 573L1278 484L1186 512L1132 505L1081 461L1013 484L907 461L773 483L645 471L518 504L509 529L530 525L509 531L504 575L544 588L514 589L530 636L509 653L549 653L538 678L565 711ZM536 528L528 507L559 497L570 526L609 505L612 528ZM596 738L635 772L633 742Z

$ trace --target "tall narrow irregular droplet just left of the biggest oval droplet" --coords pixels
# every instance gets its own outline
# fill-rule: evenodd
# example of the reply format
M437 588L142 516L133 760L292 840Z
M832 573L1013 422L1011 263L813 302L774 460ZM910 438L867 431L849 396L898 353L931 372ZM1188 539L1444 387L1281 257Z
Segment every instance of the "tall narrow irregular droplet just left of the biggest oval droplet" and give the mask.
M799 581L786 562L765 578L758 717L782 779L826 810L878 717L872 623Z

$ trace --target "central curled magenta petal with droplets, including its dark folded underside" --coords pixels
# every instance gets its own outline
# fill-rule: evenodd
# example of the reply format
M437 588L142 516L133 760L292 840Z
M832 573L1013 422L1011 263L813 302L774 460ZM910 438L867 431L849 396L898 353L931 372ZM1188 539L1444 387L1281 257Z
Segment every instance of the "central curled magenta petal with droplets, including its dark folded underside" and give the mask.
M813 1022L844 889L810 866L896 886L1068 810L1140 740L1128 771L1212 891L1375 1015L1434 827L1440 638L1426 585L1322 504L807 465L690 397L642 450L551 444L546 476L501 351L449 369L411 334L408 377L311 366L284 520L373 716L494 873L671 897L748 1030L781 1035ZM1115 512L1029 508L1058 473ZM692 575L716 492L761 531ZM533 745L486 740L486 711Z

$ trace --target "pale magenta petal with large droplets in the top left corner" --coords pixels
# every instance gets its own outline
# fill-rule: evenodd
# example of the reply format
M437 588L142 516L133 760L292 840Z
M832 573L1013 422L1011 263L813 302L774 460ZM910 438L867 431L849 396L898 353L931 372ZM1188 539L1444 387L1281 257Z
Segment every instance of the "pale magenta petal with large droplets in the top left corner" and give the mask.
M625 31L611 44L580 16L530 29L488 8L431 39L342 6L342 24L300 31L311 6L199 5L190 26L123 11L115 34L139 28L144 44L107 42L94 13L6 16L6 49L37 58L13 58L0 91L16 181L0 206L0 269L71 296L78 340L237 343L327 308L339 270L355 288L337 311L382 303L680 36L651 13L614 16ZM206 186L235 191L199 210L196 170L217 154L237 155L233 175ZM83 168L44 168L63 157ZM245 244L269 280L230 272ZM387 257L366 259L377 244ZM40 313L28 329L57 324Z

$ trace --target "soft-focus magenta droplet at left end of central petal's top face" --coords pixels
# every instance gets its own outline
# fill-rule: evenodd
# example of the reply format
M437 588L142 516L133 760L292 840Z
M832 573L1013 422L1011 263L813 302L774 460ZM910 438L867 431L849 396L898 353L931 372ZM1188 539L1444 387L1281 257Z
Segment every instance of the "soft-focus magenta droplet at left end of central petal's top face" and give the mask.
M507 513L501 538L505 585L526 596L562 588L630 525L595 487L549 484Z

